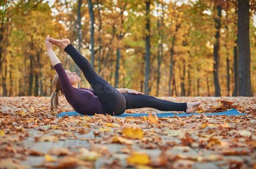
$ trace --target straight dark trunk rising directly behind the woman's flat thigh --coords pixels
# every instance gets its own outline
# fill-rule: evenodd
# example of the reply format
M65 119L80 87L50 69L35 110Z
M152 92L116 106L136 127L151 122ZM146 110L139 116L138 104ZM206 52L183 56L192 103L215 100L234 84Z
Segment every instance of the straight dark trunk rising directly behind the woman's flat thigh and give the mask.
M151 80L150 77L150 0L146 1L146 68L145 68L145 77L144 77L144 93L149 94L149 81Z

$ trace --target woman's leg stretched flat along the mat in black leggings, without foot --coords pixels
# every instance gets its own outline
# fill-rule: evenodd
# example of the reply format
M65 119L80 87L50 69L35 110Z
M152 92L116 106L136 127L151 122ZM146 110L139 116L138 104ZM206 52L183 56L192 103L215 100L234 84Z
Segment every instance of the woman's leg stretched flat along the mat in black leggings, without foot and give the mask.
M185 111L187 103L176 103L172 101L162 100L154 96L124 93L126 100L126 109L130 108L156 108L160 111Z

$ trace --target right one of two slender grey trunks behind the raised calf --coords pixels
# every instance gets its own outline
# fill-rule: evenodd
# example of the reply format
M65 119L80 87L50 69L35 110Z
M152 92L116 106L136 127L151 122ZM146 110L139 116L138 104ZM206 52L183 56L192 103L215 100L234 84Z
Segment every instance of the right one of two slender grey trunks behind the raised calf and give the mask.
M94 68L94 13L93 13L93 5L91 0L88 0L88 7L89 7L89 15L91 18L91 66Z

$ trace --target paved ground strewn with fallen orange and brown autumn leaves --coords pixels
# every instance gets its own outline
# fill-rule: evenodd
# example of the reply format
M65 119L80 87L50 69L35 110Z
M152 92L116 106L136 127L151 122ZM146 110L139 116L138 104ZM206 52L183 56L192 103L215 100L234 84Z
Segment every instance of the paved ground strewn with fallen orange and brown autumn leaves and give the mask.
M2 97L0 168L256 168L256 97L203 99L200 116L157 118L161 111L141 108L126 113L149 117L57 118L72 110L65 98L50 113L49 97ZM205 116L231 108L246 115Z

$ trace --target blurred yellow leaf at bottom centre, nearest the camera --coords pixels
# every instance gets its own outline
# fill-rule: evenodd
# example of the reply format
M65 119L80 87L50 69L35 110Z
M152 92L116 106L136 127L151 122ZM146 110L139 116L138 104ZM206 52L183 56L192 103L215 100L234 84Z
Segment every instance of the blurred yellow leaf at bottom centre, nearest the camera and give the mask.
M140 152L133 152L132 155L126 159L126 161L128 164L146 165L150 163L148 154Z

